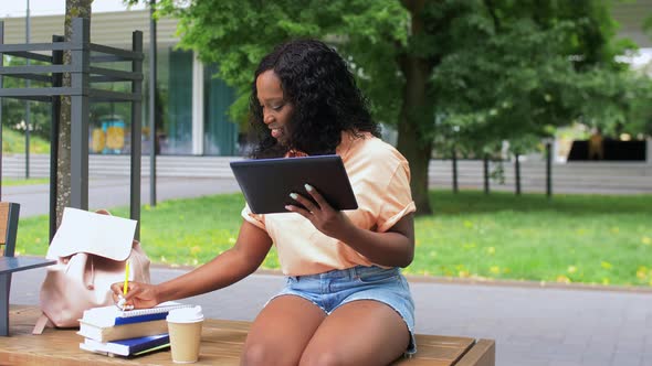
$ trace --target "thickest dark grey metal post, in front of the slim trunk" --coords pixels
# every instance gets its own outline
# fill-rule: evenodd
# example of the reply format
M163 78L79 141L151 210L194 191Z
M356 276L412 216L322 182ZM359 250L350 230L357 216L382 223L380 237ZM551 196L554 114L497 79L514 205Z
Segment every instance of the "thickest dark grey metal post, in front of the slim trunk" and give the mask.
M71 206L88 209L88 89L91 50L90 20L73 19L71 96Z

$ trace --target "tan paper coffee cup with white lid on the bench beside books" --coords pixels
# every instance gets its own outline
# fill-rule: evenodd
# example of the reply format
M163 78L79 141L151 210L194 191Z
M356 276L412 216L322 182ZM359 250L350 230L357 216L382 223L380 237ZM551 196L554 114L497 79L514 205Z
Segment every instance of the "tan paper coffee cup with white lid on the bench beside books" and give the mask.
M168 332L172 362L191 364L199 359L201 344L201 325L203 313L201 306L175 309L168 313Z

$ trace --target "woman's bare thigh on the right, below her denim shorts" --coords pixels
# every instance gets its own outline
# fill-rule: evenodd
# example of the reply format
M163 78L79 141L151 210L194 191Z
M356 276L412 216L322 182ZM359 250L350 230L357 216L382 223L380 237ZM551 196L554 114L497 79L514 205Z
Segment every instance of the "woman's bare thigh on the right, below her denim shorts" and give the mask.
M319 325L299 365L388 365L409 342L408 326L393 309L374 300L353 301Z

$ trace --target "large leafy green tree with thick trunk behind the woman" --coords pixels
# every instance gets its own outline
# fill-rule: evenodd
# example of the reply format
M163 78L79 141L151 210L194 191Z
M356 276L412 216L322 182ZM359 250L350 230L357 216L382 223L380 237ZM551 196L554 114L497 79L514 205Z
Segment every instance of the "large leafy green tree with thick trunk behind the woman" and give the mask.
M431 213L428 165L438 136L474 150L545 134L591 99L575 83L617 73L607 1L544 0L162 0L181 45L236 87L243 120L251 75L271 47L312 36L350 62L377 120L395 126L410 161L419 214ZM592 100L592 99L591 99ZM456 129L456 131L455 131ZM454 133L452 132L454 131ZM532 138L530 138L532 140Z

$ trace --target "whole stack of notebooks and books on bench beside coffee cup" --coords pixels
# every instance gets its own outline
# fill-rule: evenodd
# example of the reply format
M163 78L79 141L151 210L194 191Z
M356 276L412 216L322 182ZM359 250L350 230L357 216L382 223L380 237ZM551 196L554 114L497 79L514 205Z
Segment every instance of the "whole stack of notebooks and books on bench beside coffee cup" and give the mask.
M80 348L107 356L139 356L170 346L166 316L190 304L164 302L151 309L122 311L115 305L84 311L77 334Z

